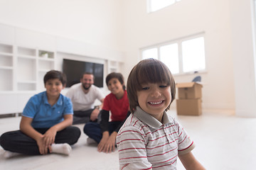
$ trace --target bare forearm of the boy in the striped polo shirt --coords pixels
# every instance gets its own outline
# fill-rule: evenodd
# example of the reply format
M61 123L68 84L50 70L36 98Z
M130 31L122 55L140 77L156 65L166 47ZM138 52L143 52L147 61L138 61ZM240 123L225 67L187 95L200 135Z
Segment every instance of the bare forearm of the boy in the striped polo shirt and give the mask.
M187 154L178 155L178 158L181 160L181 163L185 167L185 169L189 170L204 170L200 162L193 156L192 152L188 152Z

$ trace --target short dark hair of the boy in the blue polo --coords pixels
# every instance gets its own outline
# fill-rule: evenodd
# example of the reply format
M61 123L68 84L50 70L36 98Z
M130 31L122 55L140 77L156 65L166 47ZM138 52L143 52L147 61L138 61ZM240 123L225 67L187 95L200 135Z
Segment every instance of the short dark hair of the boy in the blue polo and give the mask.
M46 84L46 81L49 79L59 79L63 86L67 83L67 77L63 72L57 71L57 70L50 70L46 73L46 75L43 77L43 83Z

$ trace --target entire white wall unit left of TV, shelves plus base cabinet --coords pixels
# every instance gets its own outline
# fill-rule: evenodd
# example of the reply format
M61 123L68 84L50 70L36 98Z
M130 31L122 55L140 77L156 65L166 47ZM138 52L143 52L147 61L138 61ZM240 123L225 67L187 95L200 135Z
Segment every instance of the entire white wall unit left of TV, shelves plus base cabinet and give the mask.
M55 69L55 52L0 42L0 114L18 113L28 98L44 91L43 77Z

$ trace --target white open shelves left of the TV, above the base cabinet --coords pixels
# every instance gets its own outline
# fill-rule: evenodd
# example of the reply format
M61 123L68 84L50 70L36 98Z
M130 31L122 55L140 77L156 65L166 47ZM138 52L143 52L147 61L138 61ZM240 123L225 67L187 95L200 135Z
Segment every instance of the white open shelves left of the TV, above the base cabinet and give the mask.
M55 52L0 44L0 92L43 91L50 69L55 69Z

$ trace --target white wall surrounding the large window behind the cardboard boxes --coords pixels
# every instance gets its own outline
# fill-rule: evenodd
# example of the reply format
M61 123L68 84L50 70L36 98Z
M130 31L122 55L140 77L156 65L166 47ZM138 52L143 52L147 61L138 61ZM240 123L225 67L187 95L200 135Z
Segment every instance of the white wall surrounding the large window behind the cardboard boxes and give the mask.
M125 0L123 5L126 73L138 62L140 48L204 32L207 72L201 74L203 108L235 108L229 1L182 0L149 14L146 0ZM183 82L193 77L175 79Z

